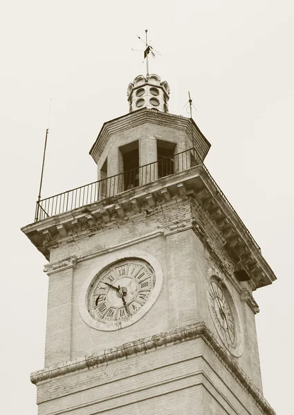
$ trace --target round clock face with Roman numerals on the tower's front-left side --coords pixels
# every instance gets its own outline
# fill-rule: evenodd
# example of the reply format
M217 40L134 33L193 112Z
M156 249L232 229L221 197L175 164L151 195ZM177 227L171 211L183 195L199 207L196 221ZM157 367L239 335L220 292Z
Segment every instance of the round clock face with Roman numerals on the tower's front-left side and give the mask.
M132 324L150 306L156 277L146 261L124 259L96 275L88 293L91 317L100 329L116 330ZM153 296L154 297L154 296Z

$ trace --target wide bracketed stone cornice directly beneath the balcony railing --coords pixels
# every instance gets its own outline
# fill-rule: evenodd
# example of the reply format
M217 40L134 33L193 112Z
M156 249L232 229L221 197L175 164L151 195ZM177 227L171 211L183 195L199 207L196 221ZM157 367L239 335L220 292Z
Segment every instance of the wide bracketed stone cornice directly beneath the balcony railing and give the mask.
M59 243L122 225L128 216L134 219L138 215L143 219L158 204L163 206L178 198L193 199L201 206L219 229L222 248L236 267L246 270L253 290L275 281L275 274L261 255L259 246L203 165L32 223L22 231L49 259L50 249ZM195 221L194 229L207 243L202 224Z

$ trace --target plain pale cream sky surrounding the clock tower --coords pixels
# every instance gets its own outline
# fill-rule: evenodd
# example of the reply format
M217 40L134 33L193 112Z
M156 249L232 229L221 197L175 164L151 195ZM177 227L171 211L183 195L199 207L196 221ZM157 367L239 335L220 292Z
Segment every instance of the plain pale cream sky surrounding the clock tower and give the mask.
M261 373L277 415L291 412L293 19L290 0L1 1L1 412L37 415L48 279L20 228L34 220L50 98L44 197L95 181L89 149L128 112L145 28L169 112L188 116L190 91L206 165L277 275L255 292Z

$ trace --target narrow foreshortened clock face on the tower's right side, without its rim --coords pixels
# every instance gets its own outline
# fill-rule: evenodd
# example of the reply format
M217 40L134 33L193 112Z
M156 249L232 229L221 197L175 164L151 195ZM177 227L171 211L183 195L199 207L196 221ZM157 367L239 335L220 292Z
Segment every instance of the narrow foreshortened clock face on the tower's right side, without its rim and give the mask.
M221 340L227 347L235 347L236 324L226 287L217 278L212 277L208 291L210 309Z

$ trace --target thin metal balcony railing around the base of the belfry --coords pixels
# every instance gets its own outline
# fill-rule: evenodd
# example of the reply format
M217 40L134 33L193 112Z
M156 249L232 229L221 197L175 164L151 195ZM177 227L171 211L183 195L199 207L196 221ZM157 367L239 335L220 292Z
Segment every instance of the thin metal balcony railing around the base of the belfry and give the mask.
M107 199L108 197L115 196L125 192L126 190L133 189L147 183L154 182L159 178L183 172L196 165L202 165L205 172L210 177L216 193L220 194L222 198L228 204L230 210L237 216L237 220L244 226L248 236L255 244L255 247L260 251L257 242L250 234L249 230L244 225L243 221L239 218L237 212L232 207L226 196L223 194L217 183L212 178L210 172L205 167L198 152L194 147L182 151L181 153L174 154L174 156L161 158L160 160L149 163L144 166L140 166L136 169L129 170L115 176L104 178L100 181L95 181L75 189L68 190L67 192L55 194L41 201L37 201L35 211L35 222L42 221L55 214L68 212L73 209L81 208L84 205L89 205Z

